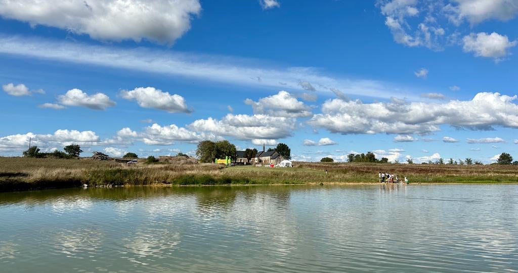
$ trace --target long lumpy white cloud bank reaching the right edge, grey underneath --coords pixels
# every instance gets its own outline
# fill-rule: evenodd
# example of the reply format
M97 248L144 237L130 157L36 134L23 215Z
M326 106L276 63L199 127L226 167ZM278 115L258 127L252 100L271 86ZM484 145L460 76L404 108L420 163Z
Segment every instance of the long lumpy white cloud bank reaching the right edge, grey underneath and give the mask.
M322 113L309 124L341 134L427 134L451 125L470 130L492 130L494 126L518 128L517 96L478 93L471 100L448 103L404 103L399 101L363 104L330 99Z

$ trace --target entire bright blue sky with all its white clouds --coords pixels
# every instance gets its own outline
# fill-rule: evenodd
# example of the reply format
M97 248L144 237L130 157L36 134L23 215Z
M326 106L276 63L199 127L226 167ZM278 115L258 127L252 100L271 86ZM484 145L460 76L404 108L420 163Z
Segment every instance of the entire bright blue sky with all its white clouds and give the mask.
M518 157L516 0L136 2L0 3L1 155Z

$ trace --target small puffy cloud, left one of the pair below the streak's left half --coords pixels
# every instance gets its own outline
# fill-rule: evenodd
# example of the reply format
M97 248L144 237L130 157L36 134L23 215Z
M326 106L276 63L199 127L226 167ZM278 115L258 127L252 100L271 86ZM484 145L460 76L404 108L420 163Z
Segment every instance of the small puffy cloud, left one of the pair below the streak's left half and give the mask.
M110 100L106 94L96 93L88 95L79 89L68 90L64 95L57 96L57 100L60 104L66 106L82 106L94 110L105 110L110 106L114 106L115 103Z

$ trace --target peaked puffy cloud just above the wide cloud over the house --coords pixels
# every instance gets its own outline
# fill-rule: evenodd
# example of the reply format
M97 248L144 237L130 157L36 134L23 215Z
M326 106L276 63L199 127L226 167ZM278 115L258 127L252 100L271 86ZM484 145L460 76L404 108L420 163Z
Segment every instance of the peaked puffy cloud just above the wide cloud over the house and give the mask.
M258 102L247 98L244 103L251 105L256 114L269 114L270 116L289 118L311 116L311 108L286 91L280 91L276 95L260 98Z

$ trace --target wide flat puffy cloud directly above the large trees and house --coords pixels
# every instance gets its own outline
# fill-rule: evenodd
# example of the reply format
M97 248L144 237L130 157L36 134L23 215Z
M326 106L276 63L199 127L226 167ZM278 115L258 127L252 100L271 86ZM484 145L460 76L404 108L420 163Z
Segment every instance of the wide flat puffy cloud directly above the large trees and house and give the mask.
M221 120L208 118L191 123L188 127L196 132L218 136L232 136L240 140L279 139L292 135L295 118L272 117L265 114L227 114Z

